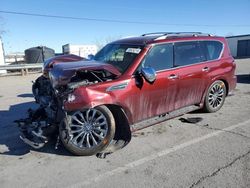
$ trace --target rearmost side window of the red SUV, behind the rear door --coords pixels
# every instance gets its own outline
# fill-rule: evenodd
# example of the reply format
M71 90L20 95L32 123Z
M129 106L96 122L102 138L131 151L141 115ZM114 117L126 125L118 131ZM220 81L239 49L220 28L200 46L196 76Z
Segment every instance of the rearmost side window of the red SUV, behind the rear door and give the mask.
M220 57L222 43L218 41L204 41L205 49L207 50L207 60L215 60Z

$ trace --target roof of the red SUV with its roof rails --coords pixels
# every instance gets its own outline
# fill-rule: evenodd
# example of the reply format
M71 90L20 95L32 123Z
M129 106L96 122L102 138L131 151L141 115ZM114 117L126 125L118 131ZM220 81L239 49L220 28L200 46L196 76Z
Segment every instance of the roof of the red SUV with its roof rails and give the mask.
M139 37L123 38L112 43L134 44L134 45L147 45L157 43L158 41L166 41L170 39L211 39L215 38L210 34L201 32L158 32L143 34ZM216 37L217 38L217 37Z

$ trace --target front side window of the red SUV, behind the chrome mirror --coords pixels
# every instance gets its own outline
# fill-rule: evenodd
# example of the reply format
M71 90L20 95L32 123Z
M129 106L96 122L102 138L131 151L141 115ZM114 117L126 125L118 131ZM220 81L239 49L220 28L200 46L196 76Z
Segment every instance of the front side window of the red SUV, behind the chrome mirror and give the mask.
M142 61L141 67L152 67L156 71L173 67L173 44L154 46Z

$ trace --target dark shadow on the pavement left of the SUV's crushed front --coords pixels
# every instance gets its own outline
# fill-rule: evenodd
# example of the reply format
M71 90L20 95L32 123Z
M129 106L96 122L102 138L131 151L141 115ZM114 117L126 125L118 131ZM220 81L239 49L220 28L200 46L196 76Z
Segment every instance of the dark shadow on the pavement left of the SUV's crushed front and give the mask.
M26 96L26 95L25 95ZM25 144L19 138L19 128L15 120L26 118L27 110L29 108L37 108L37 104L34 102L26 102L10 106L9 110L0 110L0 155L14 155L22 156L29 153L33 149ZM56 136L46 144L42 149L35 150L41 153L52 153L56 155L72 156L64 147L60 144L58 149L55 149Z

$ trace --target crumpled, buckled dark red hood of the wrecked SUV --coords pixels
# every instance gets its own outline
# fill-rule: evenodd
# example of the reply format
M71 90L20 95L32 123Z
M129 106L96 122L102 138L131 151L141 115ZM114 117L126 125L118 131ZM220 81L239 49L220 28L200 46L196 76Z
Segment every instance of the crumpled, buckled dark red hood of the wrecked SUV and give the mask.
M77 71L84 70L106 70L115 76L121 75L121 73L113 65L107 63L98 61L75 61L55 64L53 69L49 72L49 76L54 86L66 85L70 82L70 79L76 74Z

